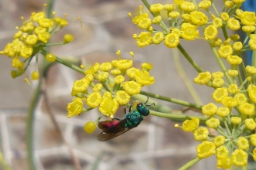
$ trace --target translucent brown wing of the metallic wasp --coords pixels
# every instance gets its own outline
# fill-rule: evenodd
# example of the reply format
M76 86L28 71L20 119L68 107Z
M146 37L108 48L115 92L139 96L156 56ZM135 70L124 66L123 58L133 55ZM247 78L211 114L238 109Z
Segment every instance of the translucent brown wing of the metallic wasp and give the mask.
M120 134L129 131L132 128L125 128L124 124L128 119L119 121L117 124L114 124L111 128L102 128L102 124L112 123L112 121L103 121L99 122L98 126L102 129L102 133L98 135L98 141L109 141L112 138L118 137Z

